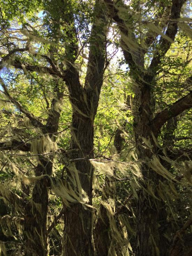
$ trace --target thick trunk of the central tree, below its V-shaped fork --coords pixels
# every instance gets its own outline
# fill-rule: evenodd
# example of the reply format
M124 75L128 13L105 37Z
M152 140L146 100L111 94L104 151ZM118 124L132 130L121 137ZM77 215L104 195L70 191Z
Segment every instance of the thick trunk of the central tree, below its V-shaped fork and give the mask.
M73 114L72 126L71 148L76 149L76 151L71 155L71 158L93 158L93 120L75 113ZM89 160L85 159L76 161L75 167L79 171L82 189L89 198L88 204L91 205L93 166ZM74 203L66 208L64 213L63 256L94 255L92 222L91 208L85 208L81 203Z

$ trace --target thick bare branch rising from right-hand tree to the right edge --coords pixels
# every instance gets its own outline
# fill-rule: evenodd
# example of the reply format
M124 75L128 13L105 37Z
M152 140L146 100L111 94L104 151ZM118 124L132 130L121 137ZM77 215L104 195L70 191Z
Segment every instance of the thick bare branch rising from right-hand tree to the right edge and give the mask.
M165 122L170 118L176 117L181 114L184 110L192 108L192 92L187 94L185 97L176 101L169 108L161 111L152 121L152 130L155 136Z

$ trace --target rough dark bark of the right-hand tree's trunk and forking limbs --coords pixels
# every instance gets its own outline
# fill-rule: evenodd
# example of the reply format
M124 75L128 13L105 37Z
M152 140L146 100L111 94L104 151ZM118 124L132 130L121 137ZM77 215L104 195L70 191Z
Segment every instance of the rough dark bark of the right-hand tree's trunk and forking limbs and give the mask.
M154 193L157 195L156 186L158 180L161 179L159 175L154 173L148 166L148 162L152 159L153 154L156 153L157 148L152 138L152 132L155 133L157 138L158 132L161 126L173 116L178 115L186 108L191 107L191 93L180 102L172 104L167 110L162 111L162 114L158 115L153 120L153 90L155 76L158 73L157 66L161 63L161 59L165 56L169 50L171 42L166 38L160 38L160 44L156 51L154 58L151 61L147 70L144 70L144 55L146 51L142 51L137 39L134 37L131 31L128 30L127 21L119 17L119 5L124 9L127 8L123 1L111 1L105 0L106 6L109 11L109 15L115 20L118 25L121 34L121 48L124 53L125 60L130 67L130 75L133 79L132 90L134 92L134 98L132 98L131 108L134 116L134 140L136 144L136 154L138 160L141 160L140 171L142 179L139 180L141 188L138 191L138 204L137 204L137 226L136 226L136 256L147 255L163 255L160 248L160 233L158 231L158 222L163 216L161 212L161 205L157 200L147 193L146 181L150 181L154 186ZM170 8L170 20L167 25L166 36L174 41L177 33L177 19L180 17L181 7L183 0L172 0ZM127 17L129 17L130 25L132 22L132 14L127 9ZM130 49L126 44L126 37L131 37L137 45L137 51ZM152 38L150 43L153 43ZM149 45L148 45L149 46ZM144 72L143 72L144 71ZM186 104L181 105L181 102ZM153 121L152 121L153 120ZM155 121L155 125L153 125ZM157 124L157 125L156 125ZM150 149L143 141L148 140L152 145ZM143 188L143 189L142 189Z

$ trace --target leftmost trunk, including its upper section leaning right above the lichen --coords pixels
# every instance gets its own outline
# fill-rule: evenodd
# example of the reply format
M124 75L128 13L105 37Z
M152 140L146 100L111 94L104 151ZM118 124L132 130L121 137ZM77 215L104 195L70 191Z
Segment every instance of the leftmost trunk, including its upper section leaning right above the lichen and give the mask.
M62 93L59 92L57 85L55 88L57 98L62 99ZM54 105L57 102L55 98L52 100L52 110L47 118L46 126L43 130L44 134L50 134L50 138L54 142L56 137L53 134L58 131L58 122L60 112L54 110ZM41 143L41 142L39 142ZM43 152L38 152L42 154ZM53 163L51 159L44 156L39 156L40 163L35 170L35 176L47 174L52 175ZM25 256L47 256L48 249L48 232L47 232L47 211L49 206L49 184L46 179L36 181L32 190L31 202L26 202L24 216L24 237Z

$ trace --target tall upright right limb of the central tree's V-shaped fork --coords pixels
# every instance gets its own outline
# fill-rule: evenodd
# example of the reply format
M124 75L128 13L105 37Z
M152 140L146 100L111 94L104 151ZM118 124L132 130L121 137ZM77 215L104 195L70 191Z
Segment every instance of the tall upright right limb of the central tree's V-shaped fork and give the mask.
M84 88L91 113L96 114L98 98L103 84L105 65L105 26L107 25L104 15L105 6L99 1L95 2L95 20L91 28L89 58ZM96 21L99 20L99 24ZM106 29L105 29L106 30ZM98 34L99 33L99 34ZM97 92L97 93L96 93Z

